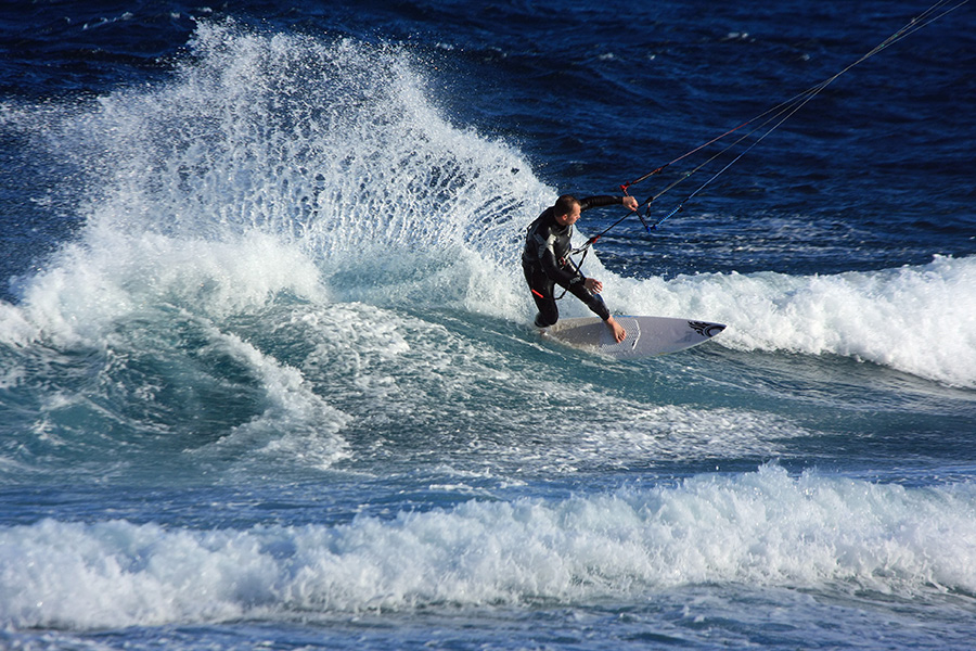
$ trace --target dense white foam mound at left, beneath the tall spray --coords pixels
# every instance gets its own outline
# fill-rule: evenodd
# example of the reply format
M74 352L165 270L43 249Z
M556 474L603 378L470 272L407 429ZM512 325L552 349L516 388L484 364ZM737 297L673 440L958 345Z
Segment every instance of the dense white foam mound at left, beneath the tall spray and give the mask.
M0 336L17 345L43 337L98 346L114 323L147 306L221 318L281 293L326 296L314 265L261 233L208 242L99 229L53 258L18 306L3 304Z

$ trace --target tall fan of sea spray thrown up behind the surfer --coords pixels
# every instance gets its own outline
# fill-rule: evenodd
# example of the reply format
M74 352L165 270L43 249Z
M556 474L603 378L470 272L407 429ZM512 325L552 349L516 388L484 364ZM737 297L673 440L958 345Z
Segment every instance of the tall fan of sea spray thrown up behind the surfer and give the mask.
M79 170L73 208L87 224L66 253L20 281L28 311L46 301L43 311L57 320L59 278L90 275L87 291L106 292L98 266L146 250L152 257L154 241L193 250L196 259L133 265L128 282L207 265L206 242L229 248L256 238L275 240L278 257L312 260L326 284L338 276L341 290L434 267L450 273L435 302L512 308L513 242L551 191L510 148L440 116L410 54L232 23L202 24L192 49L168 84L119 90L61 115L11 118ZM253 293L251 282L236 288ZM382 301L383 292L370 296ZM95 301L115 314L130 302L125 293ZM20 341L31 336L23 315L8 320ZM35 323L35 333L49 326Z

